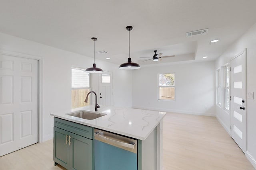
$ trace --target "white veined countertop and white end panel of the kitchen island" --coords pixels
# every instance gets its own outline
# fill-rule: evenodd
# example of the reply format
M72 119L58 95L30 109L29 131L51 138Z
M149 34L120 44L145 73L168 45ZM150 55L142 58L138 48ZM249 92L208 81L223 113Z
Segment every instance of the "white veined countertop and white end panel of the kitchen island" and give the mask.
M94 107L79 108L79 110L99 113L104 116L88 120L68 115L78 111L78 109L61 111L51 115L55 117L54 123L59 118L64 121L77 123L78 125L85 125L85 127L136 139L138 141L138 170L162 170L162 119L166 114L165 112L114 107L103 107L98 112L93 111ZM63 123L59 123L60 126L62 126L61 124ZM66 138L69 137L69 139L66 139L66 143L70 143L70 141L72 143L72 140L74 140L70 136L66 135ZM93 135L91 138L94 140ZM92 149L92 152L94 152L94 149ZM94 161L92 162L95 164Z

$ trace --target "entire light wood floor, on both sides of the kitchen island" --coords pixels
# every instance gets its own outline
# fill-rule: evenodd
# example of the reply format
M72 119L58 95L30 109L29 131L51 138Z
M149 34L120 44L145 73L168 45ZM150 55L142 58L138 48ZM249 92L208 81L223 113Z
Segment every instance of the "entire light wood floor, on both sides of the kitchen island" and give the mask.
M0 157L0 170L64 170L53 165L53 141ZM215 117L167 113L164 170L254 170Z

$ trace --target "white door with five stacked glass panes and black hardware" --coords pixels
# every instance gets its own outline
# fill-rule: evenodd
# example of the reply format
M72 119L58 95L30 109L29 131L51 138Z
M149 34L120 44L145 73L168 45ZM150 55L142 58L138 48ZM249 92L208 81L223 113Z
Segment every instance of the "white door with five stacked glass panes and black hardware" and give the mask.
M231 137L246 152L246 52L231 66Z

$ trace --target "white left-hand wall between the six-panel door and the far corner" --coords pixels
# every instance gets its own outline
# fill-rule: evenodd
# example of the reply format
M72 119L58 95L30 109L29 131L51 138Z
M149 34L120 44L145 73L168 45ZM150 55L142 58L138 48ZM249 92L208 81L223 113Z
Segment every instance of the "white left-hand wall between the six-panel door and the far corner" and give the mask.
M0 40L2 50L42 58L42 141L51 139L53 117L50 113L71 110L71 67L92 67L93 59L3 33L0 33ZM96 60L96 64L103 70L113 72L114 105L131 107L132 72L120 70L118 65L104 61Z

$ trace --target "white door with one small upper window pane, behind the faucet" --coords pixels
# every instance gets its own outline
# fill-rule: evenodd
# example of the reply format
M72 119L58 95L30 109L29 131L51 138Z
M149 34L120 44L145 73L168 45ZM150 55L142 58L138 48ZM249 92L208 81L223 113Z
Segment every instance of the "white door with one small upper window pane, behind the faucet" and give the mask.
M113 73L104 71L98 78L99 105L113 106Z

